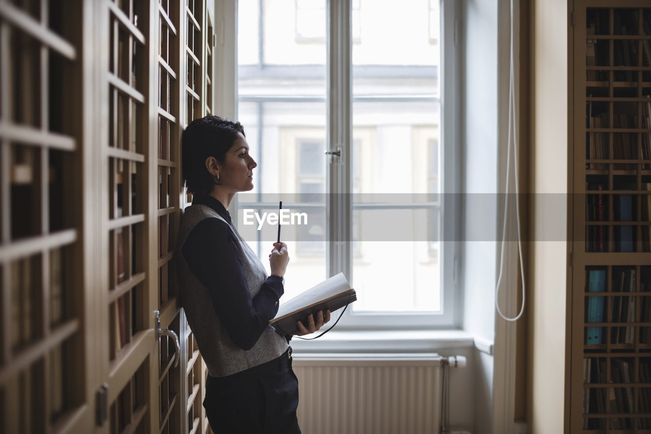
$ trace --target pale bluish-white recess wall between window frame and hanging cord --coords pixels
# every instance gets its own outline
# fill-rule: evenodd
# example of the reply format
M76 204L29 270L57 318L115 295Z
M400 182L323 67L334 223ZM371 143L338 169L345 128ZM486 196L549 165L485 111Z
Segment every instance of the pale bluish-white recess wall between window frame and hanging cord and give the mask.
M462 70L462 178L464 226L464 329L495 340L498 185L498 5L493 0L462 3L465 46ZM474 434L492 432L493 356L475 350Z

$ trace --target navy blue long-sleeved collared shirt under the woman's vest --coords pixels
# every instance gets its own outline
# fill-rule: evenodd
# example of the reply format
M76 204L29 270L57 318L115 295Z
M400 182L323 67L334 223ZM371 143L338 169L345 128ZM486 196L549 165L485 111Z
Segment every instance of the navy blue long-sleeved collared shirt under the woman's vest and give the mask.
M214 209L219 218L206 218L187 236L183 256L191 272L208 288L212 304L230 339L243 350L255 345L270 319L278 312L279 298L284 293L283 279L269 276L260 292L251 298L242 271L242 260L229 225L229 212L210 195L195 195L193 205ZM286 336L290 340L290 336Z

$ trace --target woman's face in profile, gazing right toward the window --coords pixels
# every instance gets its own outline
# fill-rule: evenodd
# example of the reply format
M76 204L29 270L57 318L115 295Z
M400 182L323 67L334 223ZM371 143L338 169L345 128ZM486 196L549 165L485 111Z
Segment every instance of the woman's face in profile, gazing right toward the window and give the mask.
M249 154L249 143L238 134L219 169L219 184L230 193L253 190L253 168L258 164Z

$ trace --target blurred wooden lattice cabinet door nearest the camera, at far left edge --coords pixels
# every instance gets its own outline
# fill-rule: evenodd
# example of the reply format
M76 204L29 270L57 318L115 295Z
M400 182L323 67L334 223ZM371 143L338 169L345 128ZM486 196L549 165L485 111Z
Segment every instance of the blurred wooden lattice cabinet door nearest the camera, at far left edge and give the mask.
M0 2L0 431L93 426L83 10Z

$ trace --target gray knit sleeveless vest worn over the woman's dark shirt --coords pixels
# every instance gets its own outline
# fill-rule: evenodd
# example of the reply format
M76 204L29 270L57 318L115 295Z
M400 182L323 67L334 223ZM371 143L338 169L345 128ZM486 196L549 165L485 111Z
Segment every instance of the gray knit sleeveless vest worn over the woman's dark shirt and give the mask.
M208 366L208 373L212 377L224 377L281 356L287 350L288 344L272 326L267 326L253 348L247 351L230 340L227 330L215 313L212 299L208 295L208 288L191 272L182 252L189 233L206 218L219 218L228 224L214 209L206 205L187 207L178 233L176 267L181 303L186 311L187 323L197 339L201 356ZM253 298L260 291L262 284L266 282L267 273L260 259L247 242L240 237L235 227L233 225L229 225L229 227L238 244L243 274L251 298Z

